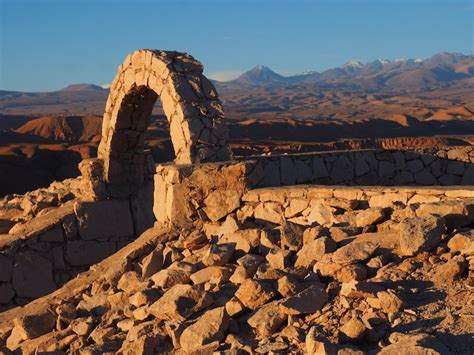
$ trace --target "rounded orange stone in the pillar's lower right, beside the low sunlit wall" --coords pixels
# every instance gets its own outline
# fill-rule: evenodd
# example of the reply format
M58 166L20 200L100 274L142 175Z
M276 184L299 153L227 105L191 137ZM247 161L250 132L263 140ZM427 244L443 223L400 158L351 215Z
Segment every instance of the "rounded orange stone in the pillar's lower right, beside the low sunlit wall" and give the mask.
M216 190L204 199L204 212L211 221L218 221L240 207L242 193L237 190Z

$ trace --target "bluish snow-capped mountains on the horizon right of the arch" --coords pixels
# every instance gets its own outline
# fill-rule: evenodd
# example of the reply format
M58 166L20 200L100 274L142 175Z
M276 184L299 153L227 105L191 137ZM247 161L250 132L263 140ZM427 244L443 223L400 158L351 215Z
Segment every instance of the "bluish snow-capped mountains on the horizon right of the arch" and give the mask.
M368 63L351 60L340 67L323 72L310 71L293 76L282 76L270 68L257 65L235 80L221 85L278 86L299 83L350 84L360 88L418 89L431 85L472 78L474 56L461 53L438 53L431 58L377 59Z

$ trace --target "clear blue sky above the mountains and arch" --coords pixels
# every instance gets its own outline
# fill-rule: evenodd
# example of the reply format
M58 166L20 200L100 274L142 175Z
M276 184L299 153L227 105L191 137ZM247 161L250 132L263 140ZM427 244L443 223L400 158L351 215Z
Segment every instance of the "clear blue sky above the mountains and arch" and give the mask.
M187 51L208 76L289 75L350 59L473 53L474 0L0 0L0 89L106 84L138 48Z

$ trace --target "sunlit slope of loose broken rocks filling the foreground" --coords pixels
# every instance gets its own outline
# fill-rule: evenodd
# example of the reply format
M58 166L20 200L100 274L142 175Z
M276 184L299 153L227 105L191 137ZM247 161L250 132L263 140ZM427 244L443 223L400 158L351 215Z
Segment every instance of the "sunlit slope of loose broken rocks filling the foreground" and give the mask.
M0 327L0 354L472 354L474 204L446 206L334 200L325 226L170 231L120 277Z

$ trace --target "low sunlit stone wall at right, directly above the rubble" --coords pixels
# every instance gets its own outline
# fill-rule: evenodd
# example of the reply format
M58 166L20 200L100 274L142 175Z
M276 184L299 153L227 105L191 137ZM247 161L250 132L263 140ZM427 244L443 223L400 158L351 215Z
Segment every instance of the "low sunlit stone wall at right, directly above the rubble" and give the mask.
M312 185L260 188L246 193L241 207L233 215L242 223L250 219L263 224L339 225L341 230L352 226L350 228L357 227L357 232L362 233L364 227L384 220L388 211L392 219L398 218L399 222L435 213L442 215L448 224L456 221L458 226L468 225L474 222L474 189ZM396 211L401 213L395 218Z

